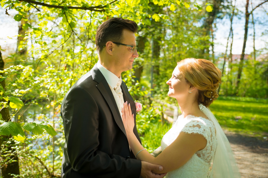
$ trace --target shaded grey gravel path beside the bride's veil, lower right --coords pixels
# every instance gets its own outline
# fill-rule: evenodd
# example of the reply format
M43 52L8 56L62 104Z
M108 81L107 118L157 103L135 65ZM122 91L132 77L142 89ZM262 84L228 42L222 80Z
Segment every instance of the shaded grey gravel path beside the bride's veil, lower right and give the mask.
M242 178L268 178L268 141L224 131Z

